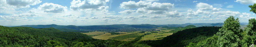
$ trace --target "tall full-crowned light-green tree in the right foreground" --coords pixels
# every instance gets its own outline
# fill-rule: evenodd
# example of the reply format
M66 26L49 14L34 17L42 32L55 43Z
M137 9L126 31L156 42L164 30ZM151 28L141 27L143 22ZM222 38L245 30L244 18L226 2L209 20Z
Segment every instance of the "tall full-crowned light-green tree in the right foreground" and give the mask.
M240 23L238 18L234 18L233 16L228 17L222 28L217 32L218 36L218 46L220 47L236 47L239 44L241 32L243 30L240 29Z

